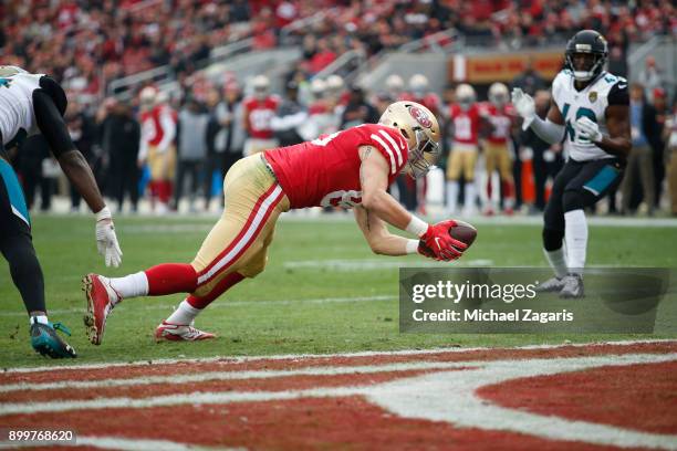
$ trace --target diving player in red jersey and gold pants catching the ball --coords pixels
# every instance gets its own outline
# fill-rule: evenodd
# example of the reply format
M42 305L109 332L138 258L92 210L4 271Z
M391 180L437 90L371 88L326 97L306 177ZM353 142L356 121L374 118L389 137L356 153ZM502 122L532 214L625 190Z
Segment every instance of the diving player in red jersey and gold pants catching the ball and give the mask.
M436 260L458 259L467 245L449 235L455 221L428 224L386 191L402 171L424 176L439 156L439 125L429 109L396 102L378 124L239 160L223 181L223 213L191 263L165 263L124 277L83 279L90 340L101 344L107 315L124 298L171 293L188 295L157 327L156 339L213 338L194 327L196 316L228 289L263 271L278 217L290 209L353 208L377 254L418 252ZM386 223L417 239L392 234Z

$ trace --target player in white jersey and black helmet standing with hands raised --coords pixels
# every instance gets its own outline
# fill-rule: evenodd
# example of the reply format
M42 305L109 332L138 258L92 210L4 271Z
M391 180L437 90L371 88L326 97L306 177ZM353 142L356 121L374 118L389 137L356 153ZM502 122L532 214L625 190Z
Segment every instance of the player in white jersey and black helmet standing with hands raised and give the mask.
M531 127L548 143L563 143L567 155L544 213L543 248L555 276L538 287L562 297L584 294L583 209L618 186L632 147L627 81L604 70L607 55L606 40L596 31L580 31L569 41L565 69L552 83L545 120L537 116L531 96L512 91L523 129Z

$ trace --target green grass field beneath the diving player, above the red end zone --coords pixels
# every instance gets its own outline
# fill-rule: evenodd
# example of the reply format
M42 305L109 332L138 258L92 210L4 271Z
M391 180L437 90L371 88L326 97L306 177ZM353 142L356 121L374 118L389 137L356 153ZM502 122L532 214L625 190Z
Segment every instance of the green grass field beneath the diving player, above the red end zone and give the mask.
M119 218L121 269L108 270L96 254L90 217L34 218L34 243L45 275L50 319L71 327L77 363L177 357L272 355L624 339L628 335L430 335L398 332L397 265L428 263L420 256L371 253L345 218L282 220L269 265L217 300L197 326L219 335L210 342L156 344L153 332L183 296L128 300L108 318L104 343L85 337L80 280L87 272L123 275L162 262L189 262L212 218ZM461 264L544 265L540 227L500 223L478 227ZM677 268L677 228L591 228L589 264ZM28 337L23 304L0 260L0 367L44 365ZM642 336L648 337L648 336ZM666 336L652 336L666 337ZM72 361L54 361L55 365Z

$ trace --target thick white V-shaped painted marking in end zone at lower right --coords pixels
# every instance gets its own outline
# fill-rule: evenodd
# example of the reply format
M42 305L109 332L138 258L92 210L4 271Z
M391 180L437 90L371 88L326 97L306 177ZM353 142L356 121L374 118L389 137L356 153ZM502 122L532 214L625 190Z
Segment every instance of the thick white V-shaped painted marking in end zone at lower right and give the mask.
M366 391L369 401L403 418L446 421L458 428L524 433L545 440L677 450L676 434L643 432L569 420L555 415L539 415L501 407L476 395L477 389L481 387L520 378L674 360L677 360L677 353L527 359L517 364L494 360L477 369L404 378L374 386Z

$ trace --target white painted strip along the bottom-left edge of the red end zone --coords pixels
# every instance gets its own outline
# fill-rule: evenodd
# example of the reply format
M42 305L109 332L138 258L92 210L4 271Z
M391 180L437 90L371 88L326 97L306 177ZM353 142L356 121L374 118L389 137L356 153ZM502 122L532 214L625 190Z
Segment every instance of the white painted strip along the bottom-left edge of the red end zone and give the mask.
M50 444L55 445L54 442ZM17 449L17 448L35 448L40 445L35 442L0 442L0 449ZM188 443L178 443L168 440L152 440L152 439L125 439L122 437L90 437L77 436L75 442L59 442L59 447L94 447L103 450L121 450L121 451L146 451L146 450L163 450L163 451L196 451L196 450L226 450L236 451L244 448L211 448L194 445Z

